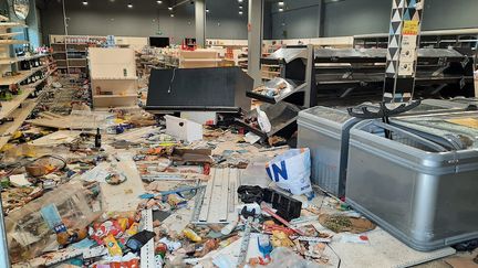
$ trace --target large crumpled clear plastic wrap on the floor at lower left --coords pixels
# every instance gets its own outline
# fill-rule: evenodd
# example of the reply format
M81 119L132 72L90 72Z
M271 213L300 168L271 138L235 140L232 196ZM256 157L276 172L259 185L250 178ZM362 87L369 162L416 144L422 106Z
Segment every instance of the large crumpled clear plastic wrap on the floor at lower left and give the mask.
M97 196L84 190L81 183L70 183L44 194L10 213L6 217L7 238L12 262L40 256L43 250L55 249L56 235L51 223L42 216L42 208L54 207L66 228L85 228L101 213Z

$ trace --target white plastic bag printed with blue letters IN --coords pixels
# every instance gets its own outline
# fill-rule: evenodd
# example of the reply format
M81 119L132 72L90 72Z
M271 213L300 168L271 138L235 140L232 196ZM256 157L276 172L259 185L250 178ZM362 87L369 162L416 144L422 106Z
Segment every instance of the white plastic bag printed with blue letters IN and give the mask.
M310 193L312 191L310 158L309 148L292 149L273 158L266 164L266 171L281 189L292 194Z

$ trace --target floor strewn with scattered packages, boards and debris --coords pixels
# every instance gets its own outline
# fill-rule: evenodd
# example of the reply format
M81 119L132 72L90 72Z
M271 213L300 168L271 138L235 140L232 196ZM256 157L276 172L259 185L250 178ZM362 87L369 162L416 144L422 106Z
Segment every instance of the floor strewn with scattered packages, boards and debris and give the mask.
M476 253L416 251L315 186L283 191L267 167L288 146L237 127L187 142L141 108L91 111L87 85L58 86L2 149L14 267L476 266Z

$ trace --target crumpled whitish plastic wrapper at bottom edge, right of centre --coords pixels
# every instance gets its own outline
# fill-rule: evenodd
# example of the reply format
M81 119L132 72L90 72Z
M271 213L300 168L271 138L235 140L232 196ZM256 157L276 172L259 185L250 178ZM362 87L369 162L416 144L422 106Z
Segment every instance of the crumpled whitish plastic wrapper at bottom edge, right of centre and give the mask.
M271 262L267 266L268 268L316 268L321 267L316 262L305 260L301 256L287 247L278 247L270 254Z

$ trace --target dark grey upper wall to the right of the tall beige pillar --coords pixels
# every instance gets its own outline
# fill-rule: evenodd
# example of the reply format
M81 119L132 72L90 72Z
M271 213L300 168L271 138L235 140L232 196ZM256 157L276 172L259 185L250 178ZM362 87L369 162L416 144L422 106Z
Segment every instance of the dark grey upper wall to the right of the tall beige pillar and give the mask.
M285 0L284 12L272 4L272 39L316 37L320 0ZM342 0L323 4L323 36L385 33L392 0ZM478 26L478 0L425 0L423 30Z

